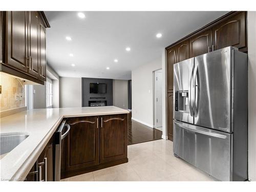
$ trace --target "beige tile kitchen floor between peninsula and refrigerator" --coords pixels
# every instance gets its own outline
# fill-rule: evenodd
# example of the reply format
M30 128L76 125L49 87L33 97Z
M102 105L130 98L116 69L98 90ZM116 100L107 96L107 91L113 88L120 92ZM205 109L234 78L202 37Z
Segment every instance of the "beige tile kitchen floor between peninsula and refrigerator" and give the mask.
M128 146L129 162L62 181L216 181L173 155L173 142L155 140Z

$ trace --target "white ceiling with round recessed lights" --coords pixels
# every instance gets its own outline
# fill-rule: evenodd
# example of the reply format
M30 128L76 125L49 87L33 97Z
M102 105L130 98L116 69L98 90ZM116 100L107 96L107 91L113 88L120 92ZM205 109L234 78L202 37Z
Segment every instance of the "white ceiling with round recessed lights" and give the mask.
M45 13L47 62L61 77L131 79L133 69L161 57L163 48L227 12L85 11L84 19L73 11Z

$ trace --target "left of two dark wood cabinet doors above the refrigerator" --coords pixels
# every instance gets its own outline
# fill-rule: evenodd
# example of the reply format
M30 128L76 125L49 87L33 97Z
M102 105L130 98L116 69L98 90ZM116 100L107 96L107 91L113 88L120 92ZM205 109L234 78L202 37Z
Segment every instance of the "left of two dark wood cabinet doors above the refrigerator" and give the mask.
M211 51L211 29L189 39L189 58Z

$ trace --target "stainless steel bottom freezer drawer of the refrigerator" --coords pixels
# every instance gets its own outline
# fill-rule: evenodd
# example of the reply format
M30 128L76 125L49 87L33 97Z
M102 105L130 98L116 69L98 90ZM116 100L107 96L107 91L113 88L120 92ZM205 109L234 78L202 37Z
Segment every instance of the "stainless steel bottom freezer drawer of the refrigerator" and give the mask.
M205 173L232 181L233 134L174 121L174 154Z

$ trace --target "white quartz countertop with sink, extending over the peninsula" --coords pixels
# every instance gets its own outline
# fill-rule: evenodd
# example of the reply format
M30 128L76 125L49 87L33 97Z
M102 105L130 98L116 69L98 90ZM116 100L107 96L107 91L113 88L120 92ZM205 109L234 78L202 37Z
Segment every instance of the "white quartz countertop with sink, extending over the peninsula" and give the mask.
M125 113L129 111L116 106L91 106L35 109L1 118L1 135L7 133L29 135L0 160L1 180L25 178L63 118Z

